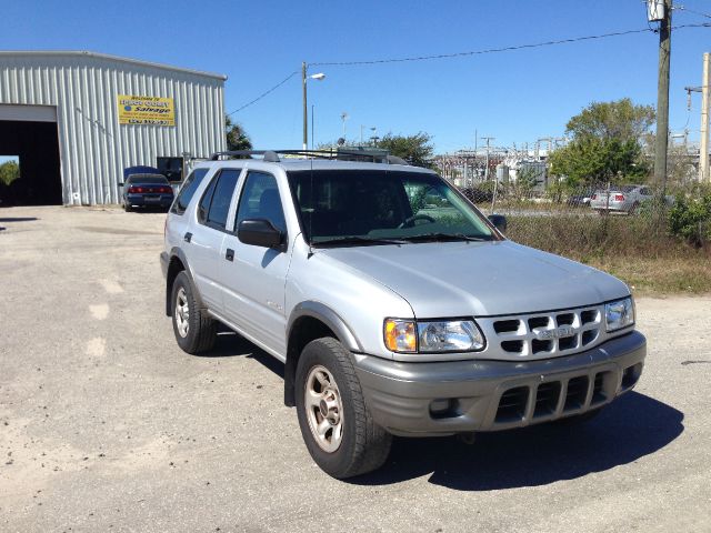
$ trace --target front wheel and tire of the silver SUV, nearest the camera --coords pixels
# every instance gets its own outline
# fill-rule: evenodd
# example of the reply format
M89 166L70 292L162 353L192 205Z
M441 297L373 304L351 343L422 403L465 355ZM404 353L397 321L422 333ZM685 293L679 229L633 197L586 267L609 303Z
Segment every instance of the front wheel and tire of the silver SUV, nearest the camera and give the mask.
M351 354L340 342L324 338L307 344L296 389L301 434L321 470L346 479L382 466L392 436L373 422Z

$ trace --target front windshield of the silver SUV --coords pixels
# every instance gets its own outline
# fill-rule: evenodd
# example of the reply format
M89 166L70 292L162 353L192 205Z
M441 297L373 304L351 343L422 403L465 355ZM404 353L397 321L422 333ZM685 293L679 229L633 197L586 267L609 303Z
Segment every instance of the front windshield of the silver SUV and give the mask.
M402 171L289 172L313 245L493 240L487 222L434 174Z

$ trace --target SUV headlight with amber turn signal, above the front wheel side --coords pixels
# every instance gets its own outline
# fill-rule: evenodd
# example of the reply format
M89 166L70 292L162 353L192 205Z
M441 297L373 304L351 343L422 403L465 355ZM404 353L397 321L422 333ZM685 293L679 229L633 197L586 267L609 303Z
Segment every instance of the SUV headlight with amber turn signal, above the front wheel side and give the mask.
M388 319L384 340L388 350L405 353L477 352L485 345L473 320L415 322Z

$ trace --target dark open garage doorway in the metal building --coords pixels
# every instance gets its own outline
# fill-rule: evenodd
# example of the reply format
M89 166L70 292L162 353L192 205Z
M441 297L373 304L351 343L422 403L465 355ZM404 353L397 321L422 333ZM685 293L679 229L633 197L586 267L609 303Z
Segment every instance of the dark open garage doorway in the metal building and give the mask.
M61 205L57 108L0 104L0 155L18 155L20 178L0 183L0 203Z

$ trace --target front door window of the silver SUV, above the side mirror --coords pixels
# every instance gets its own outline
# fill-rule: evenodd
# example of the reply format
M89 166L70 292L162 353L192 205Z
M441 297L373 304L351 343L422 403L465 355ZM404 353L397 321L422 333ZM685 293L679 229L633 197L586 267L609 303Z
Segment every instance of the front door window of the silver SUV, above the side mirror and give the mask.
M263 172L250 172L237 208L237 223L247 219L267 219L274 228L287 231L281 198L277 188L277 179Z

